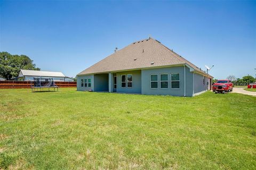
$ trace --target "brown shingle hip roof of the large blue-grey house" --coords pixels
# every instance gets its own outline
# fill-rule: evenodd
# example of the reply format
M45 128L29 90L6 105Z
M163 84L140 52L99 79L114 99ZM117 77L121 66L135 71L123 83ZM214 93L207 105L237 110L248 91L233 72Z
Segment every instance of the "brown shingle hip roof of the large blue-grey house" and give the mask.
M165 47L159 41L149 38L124 47L77 75L179 64L188 64L196 71L204 73L194 64Z

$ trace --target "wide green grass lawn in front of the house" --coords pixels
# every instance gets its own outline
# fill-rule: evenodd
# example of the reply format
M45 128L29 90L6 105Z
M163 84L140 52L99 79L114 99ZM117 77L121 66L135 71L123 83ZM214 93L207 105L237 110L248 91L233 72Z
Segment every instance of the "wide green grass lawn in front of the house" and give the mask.
M256 169L255 103L0 89L0 169Z

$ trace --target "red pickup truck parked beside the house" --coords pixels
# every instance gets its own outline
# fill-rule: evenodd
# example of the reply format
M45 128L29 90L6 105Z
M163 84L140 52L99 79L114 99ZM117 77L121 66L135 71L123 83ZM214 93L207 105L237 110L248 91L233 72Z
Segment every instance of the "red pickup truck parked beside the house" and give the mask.
M229 92L233 90L233 83L230 80L217 80L217 82L215 82L212 85L212 91L215 91L215 93L217 94L218 92Z

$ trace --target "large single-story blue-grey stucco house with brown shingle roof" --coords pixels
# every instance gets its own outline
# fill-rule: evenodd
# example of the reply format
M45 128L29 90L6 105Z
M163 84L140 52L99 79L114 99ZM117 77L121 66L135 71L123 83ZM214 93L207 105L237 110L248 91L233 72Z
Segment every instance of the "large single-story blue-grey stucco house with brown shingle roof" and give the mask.
M77 90L195 96L211 89L212 78L149 38L116 48L114 54L78 73Z

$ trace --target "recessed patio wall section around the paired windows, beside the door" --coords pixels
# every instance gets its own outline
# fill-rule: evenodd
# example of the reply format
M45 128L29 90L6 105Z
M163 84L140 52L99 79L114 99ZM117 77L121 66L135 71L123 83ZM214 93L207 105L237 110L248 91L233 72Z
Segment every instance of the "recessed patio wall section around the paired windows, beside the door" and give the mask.
M132 88L121 87L121 75L132 74ZM124 93L139 93L141 94L141 70L136 71L126 71L126 72L117 72L116 73L117 87L116 92L124 92Z

